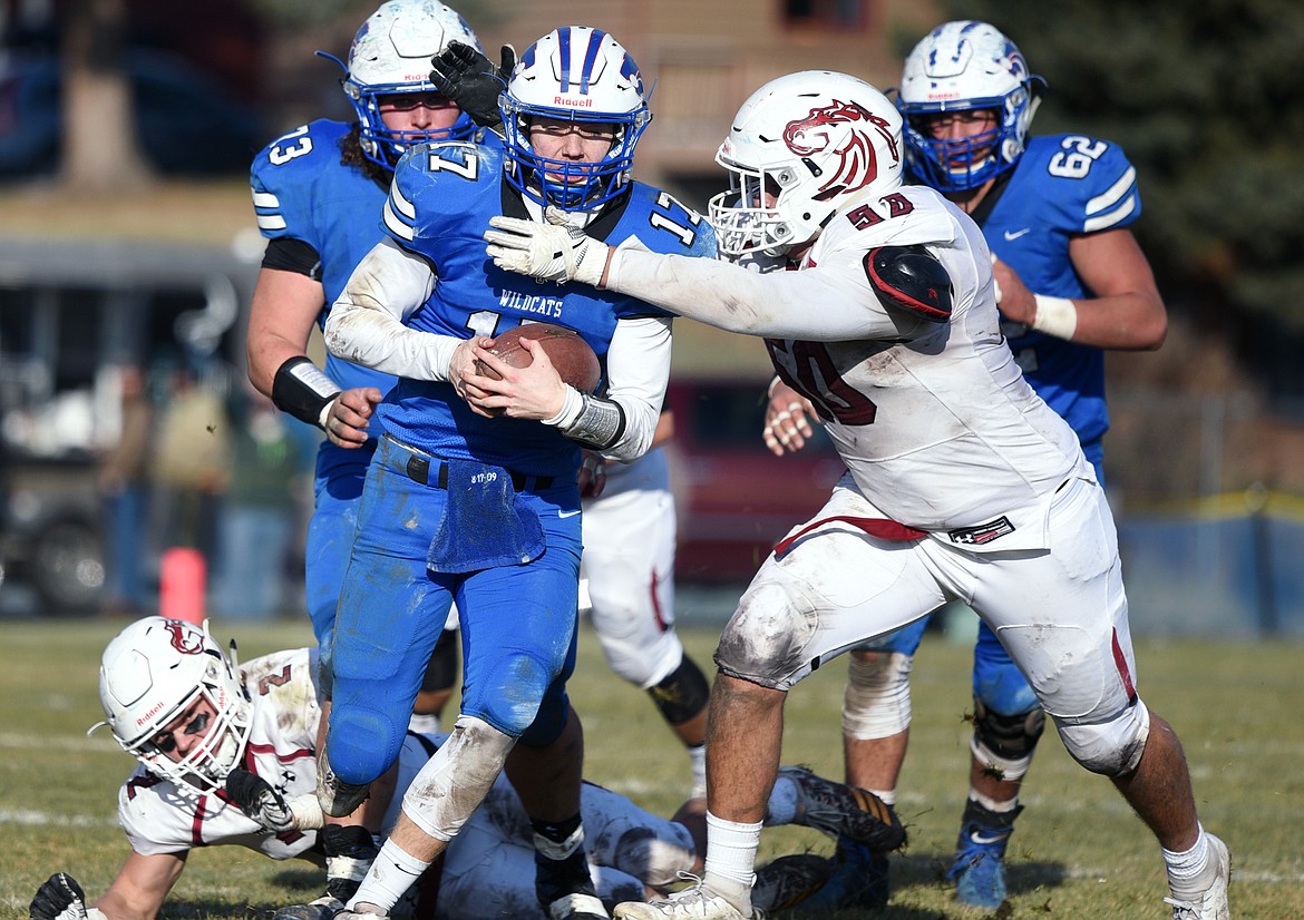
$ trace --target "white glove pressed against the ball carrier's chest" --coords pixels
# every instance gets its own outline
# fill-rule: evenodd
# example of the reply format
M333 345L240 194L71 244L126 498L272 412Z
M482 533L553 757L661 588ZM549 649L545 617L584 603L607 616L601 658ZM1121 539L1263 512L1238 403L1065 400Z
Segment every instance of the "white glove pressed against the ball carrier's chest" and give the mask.
M485 252L494 265L540 281L580 281L599 287L606 270L610 246L599 242L578 227L567 225L565 215L549 207L548 223L519 218L490 218L485 231Z

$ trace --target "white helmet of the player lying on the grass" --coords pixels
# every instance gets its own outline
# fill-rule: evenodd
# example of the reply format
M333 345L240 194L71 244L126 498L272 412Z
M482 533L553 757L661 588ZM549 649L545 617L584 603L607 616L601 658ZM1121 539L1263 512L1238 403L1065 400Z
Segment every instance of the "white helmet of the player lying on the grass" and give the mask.
M200 700L213 708L210 725L189 732L202 731L202 740L172 760L175 741L167 738L160 748L155 739ZM249 740L253 706L207 622L201 628L145 616L123 629L100 659L99 701L106 721L90 731L107 725L123 749L150 771L200 792L222 788Z

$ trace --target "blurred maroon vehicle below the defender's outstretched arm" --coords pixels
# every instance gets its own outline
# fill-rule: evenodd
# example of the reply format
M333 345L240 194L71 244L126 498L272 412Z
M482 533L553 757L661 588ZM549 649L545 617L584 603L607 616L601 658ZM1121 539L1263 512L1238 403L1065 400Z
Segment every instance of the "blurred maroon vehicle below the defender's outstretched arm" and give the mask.
M762 442L765 382L673 379L666 451L679 515L675 580L747 581L845 472L828 435L776 457Z

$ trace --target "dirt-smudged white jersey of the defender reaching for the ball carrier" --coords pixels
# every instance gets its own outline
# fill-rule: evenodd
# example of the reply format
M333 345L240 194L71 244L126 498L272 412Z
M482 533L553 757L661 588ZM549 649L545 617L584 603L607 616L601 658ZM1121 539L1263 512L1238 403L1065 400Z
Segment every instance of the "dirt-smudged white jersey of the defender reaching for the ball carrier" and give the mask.
M837 296L884 314L870 250L922 244L952 283L948 322L913 338L769 341L776 366L832 412L829 437L884 516L971 549L1043 547L1050 498L1094 478L1077 438L1024 379L1000 332L982 233L932 189L905 186L867 206L882 219L835 218L802 266L836 275ZM812 305L820 310L820 305ZM1001 523L1004 521L1004 523Z

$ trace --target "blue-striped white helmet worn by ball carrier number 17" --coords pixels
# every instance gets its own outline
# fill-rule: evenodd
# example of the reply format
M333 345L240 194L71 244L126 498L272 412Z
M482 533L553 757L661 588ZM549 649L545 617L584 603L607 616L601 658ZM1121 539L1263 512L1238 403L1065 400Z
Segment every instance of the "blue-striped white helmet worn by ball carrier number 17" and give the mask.
M554 29L526 48L498 107L511 163L507 181L563 211L593 210L621 193L634 147L652 121L639 65L625 46L591 26ZM612 124L615 138L599 163L548 159L529 143L533 117Z

